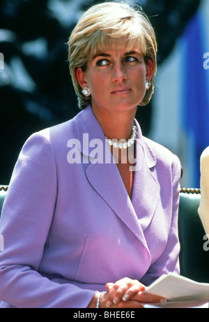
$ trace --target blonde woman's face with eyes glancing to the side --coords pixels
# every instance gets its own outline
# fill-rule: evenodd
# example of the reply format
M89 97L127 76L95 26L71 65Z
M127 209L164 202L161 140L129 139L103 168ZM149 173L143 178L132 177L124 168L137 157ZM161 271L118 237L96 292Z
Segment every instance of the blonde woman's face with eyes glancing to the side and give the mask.
M87 62L86 71L77 70L82 87L91 90L93 110L129 110L137 108L146 94L146 80L153 75L152 61L145 64L136 49L98 50Z

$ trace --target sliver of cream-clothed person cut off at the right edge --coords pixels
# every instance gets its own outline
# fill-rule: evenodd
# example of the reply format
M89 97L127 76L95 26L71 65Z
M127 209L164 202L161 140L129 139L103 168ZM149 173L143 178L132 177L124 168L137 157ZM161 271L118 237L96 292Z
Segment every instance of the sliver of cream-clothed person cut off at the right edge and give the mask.
M209 234L209 147L201 154L201 202L199 217L201 218L206 234Z

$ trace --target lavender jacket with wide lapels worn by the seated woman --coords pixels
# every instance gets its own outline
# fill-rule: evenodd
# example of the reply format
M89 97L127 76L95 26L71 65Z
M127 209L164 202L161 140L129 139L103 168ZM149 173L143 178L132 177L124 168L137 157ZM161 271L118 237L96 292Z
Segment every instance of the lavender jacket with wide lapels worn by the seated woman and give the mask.
M116 164L98 160L107 143L91 106L26 141L0 222L0 307L82 308L107 282L178 272L180 162L137 129L132 200Z

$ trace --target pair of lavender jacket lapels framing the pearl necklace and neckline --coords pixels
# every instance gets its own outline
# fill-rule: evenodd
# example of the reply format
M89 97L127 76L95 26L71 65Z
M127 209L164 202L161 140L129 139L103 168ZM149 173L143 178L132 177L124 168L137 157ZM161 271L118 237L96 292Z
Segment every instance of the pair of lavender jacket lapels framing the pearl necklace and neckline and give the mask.
M134 189L131 201L125 190L116 163L114 163L109 146L105 142L104 133L97 119L95 119L91 107L85 108L85 110L77 115L76 123L82 154L84 157L89 158L88 164L86 164L86 177L88 181L148 250L143 230L148 226L155 213L159 187L157 186L157 181L151 175L144 158L139 124L137 124L139 133L137 154L139 154L139 157L137 155L137 171L134 177ZM85 138L86 142L84 142L84 133L88 134L88 146L87 137ZM97 147L98 154L103 155L103 162L101 163L94 163L92 152L95 147L89 147L91 142L97 142L94 140L98 140L101 143ZM146 159L148 160L150 158L153 164L155 164L153 156L150 156L147 149L146 154L148 156ZM108 161L111 160L109 163L107 160L105 161L105 156ZM153 202L153 198L155 202Z

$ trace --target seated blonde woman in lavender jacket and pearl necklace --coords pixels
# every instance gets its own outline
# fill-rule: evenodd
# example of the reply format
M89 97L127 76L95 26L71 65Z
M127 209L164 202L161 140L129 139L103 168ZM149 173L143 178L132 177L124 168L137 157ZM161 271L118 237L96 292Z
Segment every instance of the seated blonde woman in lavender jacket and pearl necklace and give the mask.
M20 153L1 217L1 307L162 300L144 290L179 271L180 163L134 119L153 94L156 51L150 22L127 4L93 6L72 31L82 111Z

